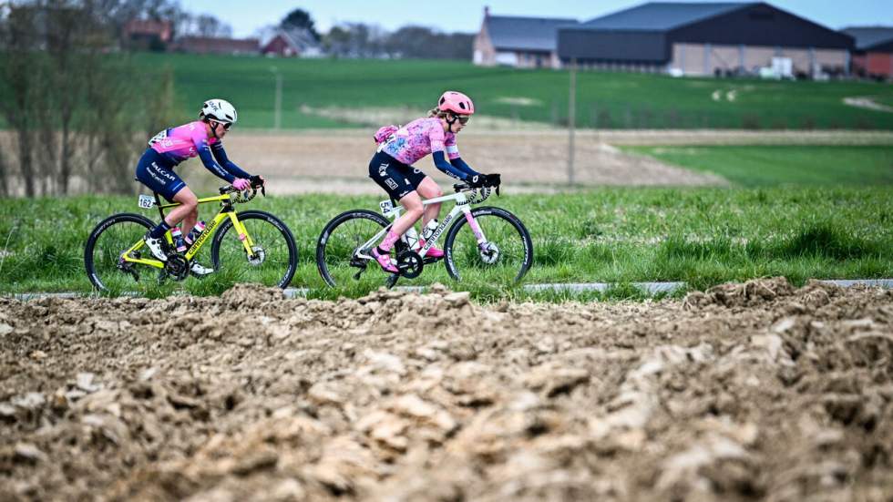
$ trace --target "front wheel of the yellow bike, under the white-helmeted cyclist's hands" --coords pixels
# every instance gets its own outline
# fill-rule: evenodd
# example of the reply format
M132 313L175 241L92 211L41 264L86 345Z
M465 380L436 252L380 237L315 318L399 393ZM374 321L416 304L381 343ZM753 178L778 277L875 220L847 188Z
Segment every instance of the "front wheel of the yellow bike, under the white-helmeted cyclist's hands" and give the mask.
M298 266L298 248L292 231L272 214L260 210L236 213L251 237L252 254L245 251L232 220L223 220L210 248L217 273L230 273L236 282L285 288Z

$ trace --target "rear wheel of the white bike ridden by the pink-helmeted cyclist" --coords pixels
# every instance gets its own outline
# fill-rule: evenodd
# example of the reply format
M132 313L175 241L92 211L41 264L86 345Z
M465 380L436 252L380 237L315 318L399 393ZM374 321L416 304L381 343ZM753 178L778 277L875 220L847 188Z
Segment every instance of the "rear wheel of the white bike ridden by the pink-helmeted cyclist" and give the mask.
M384 216L370 210L349 210L329 221L316 242L316 268L323 281L330 286L354 282L354 275L364 270L354 253L388 224ZM377 272L378 263L369 261L368 266ZM375 281L380 280L376 275Z

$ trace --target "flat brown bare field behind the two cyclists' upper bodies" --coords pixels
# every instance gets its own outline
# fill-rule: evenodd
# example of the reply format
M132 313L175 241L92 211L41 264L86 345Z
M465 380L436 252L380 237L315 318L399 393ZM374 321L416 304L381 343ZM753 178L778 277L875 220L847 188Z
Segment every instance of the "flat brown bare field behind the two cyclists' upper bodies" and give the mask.
M385 117L380 120L386 123ZM377 123L377 122L376 122ZM477 123L477 122L476 122ZM484 124L486 126L486 124ZM535 127L531 125L530 127ZM369 159L375 153L373 127L334 130L272 132L236 129L226 138L227 152L250 172L271 180L277 194L325 192L380 194L368 179ZM135 145L144 145L138 138ZM888 131L742 131L742 130L592 130L578 131L575 140L575 175L584 186L724 186L725 179L624 153L624 145L893 145ZM561 190L568 181L568 133L541 129L475 130L462 133L463 158L482 172L499 172L512 192ZM134 149L138 156L142 147ZM0 131L0 149L15 166L15 135ZM79 156L85 152L78 152ZM132 160L135 163L137 157ZM448 186L451 179L433 168L430 159L422 169ZM17 169L17 168L15 168ZM125 167L125 174L132 168ZM178 172L195 190L208 192L219 179L193 160ZM128 174L129 179L130 174ZM90 191L77 173L71 193ZM137 188L137 184L134 184ZM24 190L14 186L13 191Z

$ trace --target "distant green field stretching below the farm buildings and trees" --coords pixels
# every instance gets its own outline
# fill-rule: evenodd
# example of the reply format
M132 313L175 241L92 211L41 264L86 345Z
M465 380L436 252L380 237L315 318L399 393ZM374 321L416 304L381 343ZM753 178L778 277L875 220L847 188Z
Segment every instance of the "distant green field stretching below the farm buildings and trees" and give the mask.
M137 54L144 68L174 73L182 118L208 97L230 99L240 125L272 128L274 73L283 76L284 128L336 128L344 123L298 108L428 108L440 92L460 89L480 113L563 124L567 71L475 67L465 61L270 59ZM151 78L148 76L147 78ZM735 91L734 100L728 93ZM720 91L719 100L713 99ZM599 128L857 128L891 129L893 114L843 104L844 97L893 100L893 87L867 82L775 82L580 72L577 122ZM139 97L134 97L139 99ZM512 104L515 103L515 104ZM524 105L518 103L526 103Z

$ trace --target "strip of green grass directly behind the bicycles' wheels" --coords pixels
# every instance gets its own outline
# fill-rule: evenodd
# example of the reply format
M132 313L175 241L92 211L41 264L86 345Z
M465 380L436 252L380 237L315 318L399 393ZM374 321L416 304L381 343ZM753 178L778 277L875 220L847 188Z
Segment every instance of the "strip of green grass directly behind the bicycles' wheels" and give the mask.
M535 263L525 282L615 282L619 287L610 295L625 297L635 292L623 284L640 281L685 281L702 289L774 275L797 283L891 277L889 194L886 188L616 189L507 195L488 202L515 212L533 235ZM311 195L270 197L249 206L270 210L292 229L300 261L292 285L311 288L312 297L336 298L362 295L385 276L367 271L371 279L359 287L324 287L313 261L319 232L335 214L375 209L377 200ZM212 210L201 217L209 219ZM0 211L22 215L0 220L3 292L88 292L83 246L89 231L113 212L140 212L135 197L0 200ZM144 214L153 216L152 211ZM200 261L209 261L209 249L202 250ZM431 282L470 290L485 300L543 296L510 284L456 284L440 264L401 284ZM225 277L190 278L182 284L200 294L219 293L229 285Z

